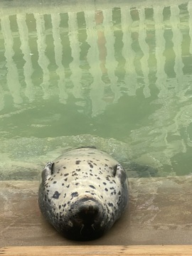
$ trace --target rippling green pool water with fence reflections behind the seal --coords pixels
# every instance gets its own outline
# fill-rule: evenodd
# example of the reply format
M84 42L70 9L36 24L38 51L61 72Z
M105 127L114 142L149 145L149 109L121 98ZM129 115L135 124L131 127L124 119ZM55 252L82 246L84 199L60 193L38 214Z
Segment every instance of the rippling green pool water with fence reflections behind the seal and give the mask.
M0 17L1 179L82 145L128 176L191 174L192 1L21 10Z

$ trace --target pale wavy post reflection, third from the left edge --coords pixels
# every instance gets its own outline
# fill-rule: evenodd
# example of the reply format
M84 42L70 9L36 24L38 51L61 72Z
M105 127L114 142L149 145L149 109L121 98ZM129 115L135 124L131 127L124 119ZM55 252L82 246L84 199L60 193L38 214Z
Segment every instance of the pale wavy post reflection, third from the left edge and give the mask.
M49 82L50 82L50 72L48 70L48 65L50 61L46 56L46 28L43 14L34 14L36 19L36 31L37 31L37 46L38 46L38 65L40 65L43 70L43 82L41 87L43 89L43 98L48 99L50 97L49 92Z

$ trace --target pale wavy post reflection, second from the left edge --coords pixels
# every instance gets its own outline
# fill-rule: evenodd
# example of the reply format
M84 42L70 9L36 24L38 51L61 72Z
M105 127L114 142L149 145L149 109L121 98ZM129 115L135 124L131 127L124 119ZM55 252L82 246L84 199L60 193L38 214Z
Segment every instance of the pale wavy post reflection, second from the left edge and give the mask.
M26 25L26 14L17 14L16 21L18 25L18 33L21 41L21 51L23 59L26 60L23 66L23 75L26 82L26 97L30 102L35 99L36 88L33 86L31 75L33 74L33 66L31 63L31 50L28 45L28 26Z

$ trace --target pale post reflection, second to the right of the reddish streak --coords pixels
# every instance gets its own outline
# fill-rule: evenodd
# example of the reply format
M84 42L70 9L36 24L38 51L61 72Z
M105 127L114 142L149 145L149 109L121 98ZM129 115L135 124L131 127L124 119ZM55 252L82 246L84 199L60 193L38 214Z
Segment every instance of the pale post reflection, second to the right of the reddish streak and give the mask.
M129 96L136 95L137 90L137 73L134 65L135 51L132 49L132 16L131 10L121 9L122 16L122 55L125 59L124 64L124 83L127 86L127 94Z

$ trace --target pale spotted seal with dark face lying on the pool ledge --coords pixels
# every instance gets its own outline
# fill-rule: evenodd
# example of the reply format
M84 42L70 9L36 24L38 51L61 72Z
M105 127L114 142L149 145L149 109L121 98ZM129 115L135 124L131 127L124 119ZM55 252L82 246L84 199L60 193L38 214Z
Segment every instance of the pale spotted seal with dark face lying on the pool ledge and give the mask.
M127 203L126 172L93 146L66 151L42 171L38 190L41 213L70 240L100 238Z

